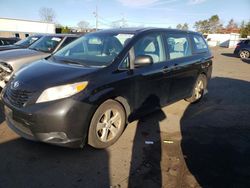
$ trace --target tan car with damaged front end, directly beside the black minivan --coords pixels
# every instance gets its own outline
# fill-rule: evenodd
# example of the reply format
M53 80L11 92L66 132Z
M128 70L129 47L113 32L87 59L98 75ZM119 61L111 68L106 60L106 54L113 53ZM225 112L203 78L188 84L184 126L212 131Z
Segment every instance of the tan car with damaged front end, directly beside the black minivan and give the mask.
M1 51L0 88L3 88L11 75L20 68L50 56L78 37L74 34L51 34L43 36L27 49Z

